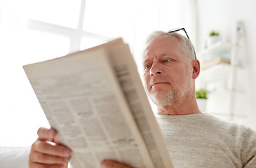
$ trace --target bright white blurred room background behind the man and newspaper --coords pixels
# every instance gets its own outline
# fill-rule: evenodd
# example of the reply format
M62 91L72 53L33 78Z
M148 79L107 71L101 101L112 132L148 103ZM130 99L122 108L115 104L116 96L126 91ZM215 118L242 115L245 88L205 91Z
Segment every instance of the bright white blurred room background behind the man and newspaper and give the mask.
M139 64L151 31L180 27L201 62L196 89L207 93L203 103L198 99L201 111L256 130L255 6L253 0L0 0L0 146L31 146L38 128L50 127L23 65L117 37Z

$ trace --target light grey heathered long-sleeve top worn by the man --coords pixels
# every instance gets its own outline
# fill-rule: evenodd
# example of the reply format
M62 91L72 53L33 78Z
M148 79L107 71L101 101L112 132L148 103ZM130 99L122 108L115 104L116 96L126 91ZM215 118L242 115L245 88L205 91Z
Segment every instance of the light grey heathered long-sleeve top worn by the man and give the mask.
M155 115L175 168L256 167L256 132L207 113Z

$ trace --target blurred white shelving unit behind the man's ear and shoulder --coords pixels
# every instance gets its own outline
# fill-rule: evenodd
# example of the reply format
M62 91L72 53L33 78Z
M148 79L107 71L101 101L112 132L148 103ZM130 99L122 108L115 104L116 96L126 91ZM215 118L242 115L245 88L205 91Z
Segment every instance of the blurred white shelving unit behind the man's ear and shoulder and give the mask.
M201 74L197 87L209 91L206 111L231 119L236 115L244 115L244 105L248 101L245 88L247 73L242 67L234 66L238 56L245 54L236 45L242 40L239 37L243 37L240 22L236 23L235 30L235 41L220 41L198 53Z

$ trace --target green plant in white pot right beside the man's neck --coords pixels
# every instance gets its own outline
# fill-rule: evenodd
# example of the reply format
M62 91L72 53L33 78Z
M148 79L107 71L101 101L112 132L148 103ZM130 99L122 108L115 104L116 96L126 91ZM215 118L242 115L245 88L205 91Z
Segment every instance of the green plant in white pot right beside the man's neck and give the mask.
M201 112L206 112L208 91L204 88L196 91L196 102Z

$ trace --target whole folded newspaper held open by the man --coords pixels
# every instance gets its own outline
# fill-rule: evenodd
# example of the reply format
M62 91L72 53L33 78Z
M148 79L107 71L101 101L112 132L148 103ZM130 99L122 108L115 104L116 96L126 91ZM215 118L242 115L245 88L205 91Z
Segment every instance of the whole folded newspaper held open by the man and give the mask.
M173 167L121 38L23 68L58 143L72 149L73 168L100 168L102 160Z

